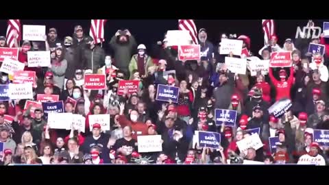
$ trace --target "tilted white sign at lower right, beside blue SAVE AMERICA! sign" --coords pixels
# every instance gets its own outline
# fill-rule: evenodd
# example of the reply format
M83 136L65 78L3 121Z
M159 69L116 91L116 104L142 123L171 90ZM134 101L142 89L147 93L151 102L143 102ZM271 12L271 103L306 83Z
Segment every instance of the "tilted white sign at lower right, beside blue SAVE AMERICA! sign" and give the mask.
M236 142L239 150L242 152L246 151L249 148L254 148L255 150L263 147L262 140L260 140L258 134L252 134L252 136L248 136L247 138L243 138L243 140L239 140Z

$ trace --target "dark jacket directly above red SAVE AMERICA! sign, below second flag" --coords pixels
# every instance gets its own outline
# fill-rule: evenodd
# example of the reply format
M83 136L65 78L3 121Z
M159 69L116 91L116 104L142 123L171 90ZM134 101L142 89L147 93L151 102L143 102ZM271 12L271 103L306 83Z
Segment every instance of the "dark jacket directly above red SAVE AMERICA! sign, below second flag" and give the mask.
M97 45L93 49L86 48L84 49L82 61L84 69L91 69L93 73L97 73L97 70L105 62L105 51Z

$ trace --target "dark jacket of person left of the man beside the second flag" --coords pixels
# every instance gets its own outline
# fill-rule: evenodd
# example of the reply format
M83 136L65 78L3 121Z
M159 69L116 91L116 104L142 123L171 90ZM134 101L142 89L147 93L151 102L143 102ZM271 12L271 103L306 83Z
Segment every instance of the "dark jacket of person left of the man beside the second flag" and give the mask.
M65 60L67 61L68 68L65 71L66 79L73 79L75 77L75 70L81 68L81 53L78 47L66 48Z

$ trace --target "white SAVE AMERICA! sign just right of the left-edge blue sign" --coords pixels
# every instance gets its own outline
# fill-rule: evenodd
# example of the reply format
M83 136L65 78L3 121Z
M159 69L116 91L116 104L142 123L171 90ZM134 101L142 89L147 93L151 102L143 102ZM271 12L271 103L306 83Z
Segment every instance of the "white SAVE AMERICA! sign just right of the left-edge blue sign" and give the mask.
M9 84L8 97L10 99L33 99L32 84Z

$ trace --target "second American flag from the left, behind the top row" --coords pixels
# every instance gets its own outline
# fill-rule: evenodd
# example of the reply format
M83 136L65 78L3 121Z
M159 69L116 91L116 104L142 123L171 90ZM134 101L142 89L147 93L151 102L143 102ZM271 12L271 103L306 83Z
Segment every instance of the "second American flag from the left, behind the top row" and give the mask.
M91 19L89 35L93 37L95 44L104 42L105 19Z

